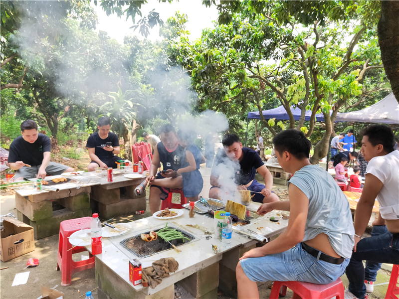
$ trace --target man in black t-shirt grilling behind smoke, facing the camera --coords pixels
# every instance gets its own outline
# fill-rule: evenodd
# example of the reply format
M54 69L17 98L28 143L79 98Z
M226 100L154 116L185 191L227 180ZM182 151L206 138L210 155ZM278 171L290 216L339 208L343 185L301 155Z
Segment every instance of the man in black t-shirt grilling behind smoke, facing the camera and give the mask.
M278 201L271 191L273 176L253 149L243 148L237 135L227 134L222 140L223 149L219 149L210 174L210 198L223 197L222 192L250 190L253 201L266 203ZM256 171L263 177L265 185L255 179Z

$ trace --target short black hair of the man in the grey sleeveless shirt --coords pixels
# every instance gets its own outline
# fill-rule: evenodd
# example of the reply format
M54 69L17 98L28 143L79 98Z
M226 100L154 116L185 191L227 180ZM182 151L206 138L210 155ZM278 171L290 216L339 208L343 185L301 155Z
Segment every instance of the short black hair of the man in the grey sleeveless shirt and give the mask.
M298 160L309 158L311 144L301 131L294 129L284 130L274 136L273 144L280 155L284 151L288 151Z

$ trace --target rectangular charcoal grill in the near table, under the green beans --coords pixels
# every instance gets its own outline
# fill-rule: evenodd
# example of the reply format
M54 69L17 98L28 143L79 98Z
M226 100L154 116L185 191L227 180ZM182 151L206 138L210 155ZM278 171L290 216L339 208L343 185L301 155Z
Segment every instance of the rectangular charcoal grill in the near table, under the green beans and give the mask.
M168 227L174 228L183 235L190 239L190 241L185 240L183 242L182 240L174 240L171 241L173 245L176 247L192 243L195 241L200 240L198 237L188 233L187 231L178 228L177 226L168 223ZM154 254L173 249L172 245L165 242L162 238L158 237L157 240L151 241L151 242L145 242L141 239L141 234L149 234L150 231L155 231L158 232L160 229L165 228L165 225L159 225L153 228L147 228L143 229L140 231L132 232L129 234L124 234L116 237L109 238L112 244L114 244L119 250L121 250L125 255L127 255L129 258L134 259L134 258L146 258L149 256L152 256Z

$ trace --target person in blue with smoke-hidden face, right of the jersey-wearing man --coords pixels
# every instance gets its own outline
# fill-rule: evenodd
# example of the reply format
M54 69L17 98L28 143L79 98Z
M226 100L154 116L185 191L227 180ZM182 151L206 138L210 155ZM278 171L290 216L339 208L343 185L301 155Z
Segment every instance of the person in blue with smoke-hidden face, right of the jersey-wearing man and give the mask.
M178 141L185 148L185 153L182 168L178 169L177 174L183 175L183 193L188 201L197 201L203 187L203 179L199 170L201 152L194 144L195 137L195 132L185 132L182 130L178 132Z

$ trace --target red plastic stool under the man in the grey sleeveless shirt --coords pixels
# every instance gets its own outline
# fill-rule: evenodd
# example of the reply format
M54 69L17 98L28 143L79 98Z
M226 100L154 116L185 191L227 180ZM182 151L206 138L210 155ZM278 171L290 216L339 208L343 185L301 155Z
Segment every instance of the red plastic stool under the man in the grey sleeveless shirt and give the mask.
M302 282L274 282L269 299L278 299L281 287L294 292L292 299L344 299L345 288L341 278L328 285L316 285ZM283 290L284 291L284 290Z

